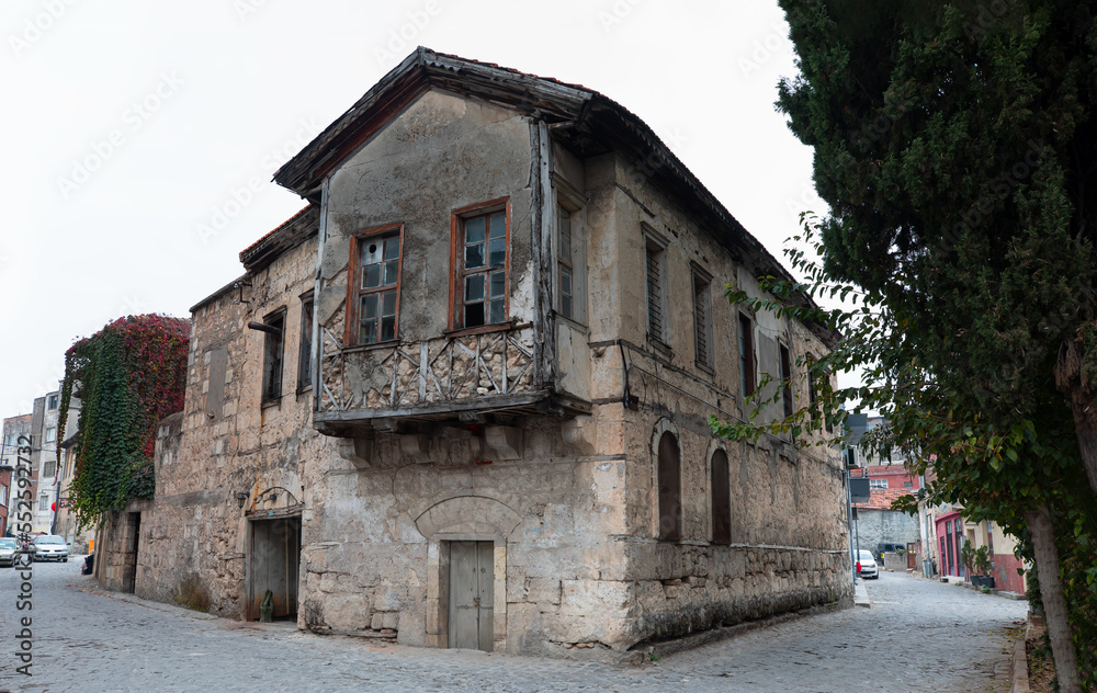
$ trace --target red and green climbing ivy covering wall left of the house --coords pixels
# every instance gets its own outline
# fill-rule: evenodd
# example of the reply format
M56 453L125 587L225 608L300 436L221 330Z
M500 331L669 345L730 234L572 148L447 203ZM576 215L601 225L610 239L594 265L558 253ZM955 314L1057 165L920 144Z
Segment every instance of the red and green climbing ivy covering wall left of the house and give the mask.
M156 427L181 411L190 323L128 316L78 340L65 353L60 430L73 395L81 402L69 501L81 526L155 490ZM60 447L58 446L58 456Z

